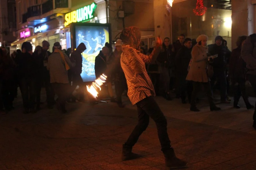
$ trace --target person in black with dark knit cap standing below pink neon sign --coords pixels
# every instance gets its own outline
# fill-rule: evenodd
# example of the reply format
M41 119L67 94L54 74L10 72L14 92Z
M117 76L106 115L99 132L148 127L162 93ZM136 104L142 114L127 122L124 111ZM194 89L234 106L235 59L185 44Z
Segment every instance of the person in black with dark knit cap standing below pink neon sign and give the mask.
M24 114L35 113L36 99L36 59L32 55L30 42L23 42L22 54L18 63L18 76L20 77L20 89L23 99Z

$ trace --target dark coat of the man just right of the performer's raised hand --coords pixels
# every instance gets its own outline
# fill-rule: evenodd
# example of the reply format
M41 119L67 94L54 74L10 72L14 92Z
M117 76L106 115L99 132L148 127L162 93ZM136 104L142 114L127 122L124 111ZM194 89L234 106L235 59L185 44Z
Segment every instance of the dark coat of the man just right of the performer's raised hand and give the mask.
M172 51L172 45L169 45L168 48L163 43L164 52L161 52L157 61L160 62L161 67L173 68L175 62L175 53Z

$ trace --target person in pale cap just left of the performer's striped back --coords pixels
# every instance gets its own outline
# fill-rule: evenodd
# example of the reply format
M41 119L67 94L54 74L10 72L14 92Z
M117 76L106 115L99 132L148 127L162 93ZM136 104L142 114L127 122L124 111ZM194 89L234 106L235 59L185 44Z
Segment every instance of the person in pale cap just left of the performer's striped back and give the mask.
M123 73L120 62L121 54L123 52L122 45L123 42L121 40L115 42L115 51L111 53L109 59L109 67L112 70L111 75L115 84L116 101L119 107L124 107L122 103L122 94L125 91L125 87L127 86L125 75Z

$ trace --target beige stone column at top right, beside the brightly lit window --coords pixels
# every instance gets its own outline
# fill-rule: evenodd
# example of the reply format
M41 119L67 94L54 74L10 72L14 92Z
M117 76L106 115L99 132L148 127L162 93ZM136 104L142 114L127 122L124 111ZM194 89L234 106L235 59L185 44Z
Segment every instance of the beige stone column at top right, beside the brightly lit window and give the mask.
M254 7L251 0L232 0L232 49L241 35L255 32Z

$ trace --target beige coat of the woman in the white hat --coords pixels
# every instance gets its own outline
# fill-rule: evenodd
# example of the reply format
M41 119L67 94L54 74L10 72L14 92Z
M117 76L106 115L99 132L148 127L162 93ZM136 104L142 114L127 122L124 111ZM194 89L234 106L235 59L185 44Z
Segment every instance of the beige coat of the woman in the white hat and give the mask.
M196 44L191 52L192 63L186 80L195 82L208 82L207 76L207 47Z

